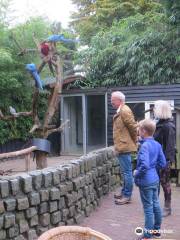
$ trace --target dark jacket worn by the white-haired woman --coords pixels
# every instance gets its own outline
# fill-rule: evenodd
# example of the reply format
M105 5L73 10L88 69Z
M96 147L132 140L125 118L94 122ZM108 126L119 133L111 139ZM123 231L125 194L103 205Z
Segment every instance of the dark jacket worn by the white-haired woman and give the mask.
M172 119L160 119L156 123L154 139L163 148L167 161L173 162L176 158L176 128Z

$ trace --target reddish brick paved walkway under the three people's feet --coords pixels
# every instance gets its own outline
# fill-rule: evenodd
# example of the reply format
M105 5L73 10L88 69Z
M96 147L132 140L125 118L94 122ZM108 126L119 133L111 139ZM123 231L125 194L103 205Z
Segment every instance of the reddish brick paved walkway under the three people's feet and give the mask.
M160 198L162 205L162 194ZM172 215L164 218L162 224L162 230L170 233L163 233L161 239L180 240L180 188L173 187L172 206ZM142 205L138 188L135 187L131 204L115 205L113 193L110 193L102 200L97 211L91 213L81 225L100 231L112 240L134 240L137 239L135 229L143 227L143 223Z

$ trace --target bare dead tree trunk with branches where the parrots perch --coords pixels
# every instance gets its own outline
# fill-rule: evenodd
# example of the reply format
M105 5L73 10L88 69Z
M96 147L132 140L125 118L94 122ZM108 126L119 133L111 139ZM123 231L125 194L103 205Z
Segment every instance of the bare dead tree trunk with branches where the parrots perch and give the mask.
M41 44L36 40L35 36L33 36L34 42L36 44L37 50L40 54L40 57L42 59L42 63L38 68L38 73L41 72L43 67L48 64L50 71L53 73L55 72L55 77L56 77L56 82L50 86L50 97L48 99L48 108L44 117L43 123L40 122L40 119L38 117L38 98L39 98L39 89L36 86L34 90L34 95L33 95L33 101L32 101L32 111L30 112L20 112L20 113L15 113L11 116L4 116L3 113L0 110L0 119L3 120L11 120L15 119L20 116L32 116L34 125L32 129L30 130L30 133L38 133L38 135L46 139L49 134L55 132L55 131L61 131L65 124L68 122L68 120L65 123L62 123L59 127L53 126L51 124L52 118L57 110L57 106L59 104L60 100L60 94L62 91L62 84L63 84L63 67L62 67L62 61L57 54L57 49L56 49L56 43L55 42L48 42L49 44L49 53L48 55L43 55L43 52L41 51ZM17 41L15 40L16 44L18 45ZM21 49L20 45L19 48L21 50L21 54L25 54L31 49ZM33 50L34 51L34 50ZM55 70L55 71L54 71ZM35 79L36 80L36 79ZM40 148L36 150L35 152L35 157L36 157L36 165L37 169L42 169L47 167L47 152L40 151Z

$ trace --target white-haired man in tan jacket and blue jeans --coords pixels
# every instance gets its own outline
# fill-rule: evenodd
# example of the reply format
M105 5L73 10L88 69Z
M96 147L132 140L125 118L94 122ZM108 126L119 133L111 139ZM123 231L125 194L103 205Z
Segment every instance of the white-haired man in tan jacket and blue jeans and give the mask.
M124 182L121 193L114 198L116 204L123 205L130 202L133 190L131 153L137 151L137 125L122 92L112 93L111 104L117 109L113 118L113 140Z

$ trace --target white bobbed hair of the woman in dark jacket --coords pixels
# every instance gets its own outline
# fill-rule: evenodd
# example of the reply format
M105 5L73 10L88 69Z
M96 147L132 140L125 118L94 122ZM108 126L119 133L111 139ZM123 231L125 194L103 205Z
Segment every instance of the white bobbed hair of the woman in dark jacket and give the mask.
M164 100L155 101L154 116L159 119L172 118L172 111L169 102Z

